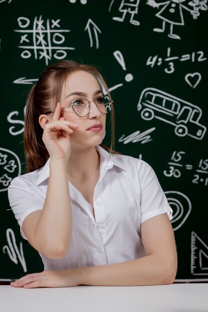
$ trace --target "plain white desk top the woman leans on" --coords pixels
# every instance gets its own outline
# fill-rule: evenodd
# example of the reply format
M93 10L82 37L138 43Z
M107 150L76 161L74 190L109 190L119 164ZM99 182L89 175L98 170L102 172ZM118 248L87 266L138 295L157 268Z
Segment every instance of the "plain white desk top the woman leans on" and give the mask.
M23 289L0 286L1 312L208 312L208 284Z

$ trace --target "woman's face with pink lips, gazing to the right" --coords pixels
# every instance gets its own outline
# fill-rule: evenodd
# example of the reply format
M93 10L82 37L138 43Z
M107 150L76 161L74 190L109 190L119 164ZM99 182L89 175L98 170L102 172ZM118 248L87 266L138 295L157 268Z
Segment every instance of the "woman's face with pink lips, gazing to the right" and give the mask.
M72 101L78 98L90 101L90 112L85 117L77 116L72 107L62 110L62 117L65 120L79 126L70 135L72 149L101 144L105 134L106 114L101 113L93 102L101 95L102 91L97 80L88 72L77 70L66 79L60 99L62 108L69 107Z

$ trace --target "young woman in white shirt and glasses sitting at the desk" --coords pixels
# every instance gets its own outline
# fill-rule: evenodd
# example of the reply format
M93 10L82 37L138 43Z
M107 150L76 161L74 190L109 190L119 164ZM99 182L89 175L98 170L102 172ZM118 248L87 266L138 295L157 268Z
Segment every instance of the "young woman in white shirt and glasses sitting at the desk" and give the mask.
M70 60L49 66L28 95L28 173L8 189L21 235L44 271L14 287L173 283L172 210L145 161L100 144L113 101L100 73ZM113 130L113 125L112 125Z

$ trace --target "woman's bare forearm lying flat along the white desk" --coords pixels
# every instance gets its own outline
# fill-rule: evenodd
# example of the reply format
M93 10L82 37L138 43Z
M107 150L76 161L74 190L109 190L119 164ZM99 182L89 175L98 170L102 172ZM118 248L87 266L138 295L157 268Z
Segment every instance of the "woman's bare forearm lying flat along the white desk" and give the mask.
M159 255L112 265L79 269L79 284L91 286L140 286L172 284L177 271L177 260L164 260Z

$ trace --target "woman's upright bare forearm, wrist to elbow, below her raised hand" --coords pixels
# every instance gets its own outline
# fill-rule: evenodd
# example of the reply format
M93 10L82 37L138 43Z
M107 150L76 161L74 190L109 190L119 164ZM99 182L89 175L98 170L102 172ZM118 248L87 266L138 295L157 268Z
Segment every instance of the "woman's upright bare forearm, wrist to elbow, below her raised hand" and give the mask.
M66 165L62 159L50 161L45 203L37 222L34 241L38 251L49 258L62 258L68 251L72 233L72 214Z

